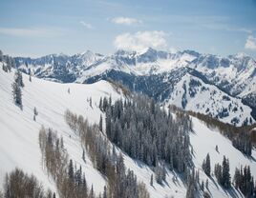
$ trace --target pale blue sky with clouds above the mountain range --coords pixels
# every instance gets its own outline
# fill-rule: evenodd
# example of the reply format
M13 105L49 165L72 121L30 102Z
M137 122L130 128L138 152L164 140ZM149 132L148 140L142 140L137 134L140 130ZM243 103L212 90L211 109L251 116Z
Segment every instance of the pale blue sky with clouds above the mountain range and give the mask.
M256 0L1 0L12 56L192 49L256 58Z

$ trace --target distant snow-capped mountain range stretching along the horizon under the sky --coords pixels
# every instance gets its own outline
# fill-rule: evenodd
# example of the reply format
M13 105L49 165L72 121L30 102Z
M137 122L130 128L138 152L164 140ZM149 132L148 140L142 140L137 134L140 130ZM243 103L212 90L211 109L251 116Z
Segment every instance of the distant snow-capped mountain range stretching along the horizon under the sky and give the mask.
M154 97L162 105L175 103L182 109L200 111L235 125L256 120L256 62L245 54L222 57L194 50L170 53L149 48L142 52L117 50L111 55L102 55L87 50L72 56L51 54L35 59L16 57L15 62L17 68L32 72L39 78L62 83L94 83L110 78ZM182 80L183 85L191 87L186 89L195 89L193 83L186 84L192 78L193 82L201 82L202 88L210 86L217 92L221 91L222 97L225 95L224 98L230 98L231 106L237 104L238 109L243 110L233 112L230 108L228 113L223 113L226 111L223 101L210 95L211 90L205 89L193 94L193 100L188 92L183 92L182 100L186 100L187 105L182 105L175 97L184 88L178 89L177 86ZM193 101L199 100L202 94L208 99L213 97L213 104L198 109ZM222 114L225 117L220 116Z

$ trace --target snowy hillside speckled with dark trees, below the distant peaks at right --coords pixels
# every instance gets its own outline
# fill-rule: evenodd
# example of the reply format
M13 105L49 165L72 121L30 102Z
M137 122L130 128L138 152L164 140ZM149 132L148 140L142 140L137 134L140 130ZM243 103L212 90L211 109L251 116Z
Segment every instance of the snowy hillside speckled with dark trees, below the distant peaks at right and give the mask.
M216 86L208 85L195 76L186 74L175 86L164 103L181 109L208 114L236 126L252 124L251 109L241 99L232 97Z

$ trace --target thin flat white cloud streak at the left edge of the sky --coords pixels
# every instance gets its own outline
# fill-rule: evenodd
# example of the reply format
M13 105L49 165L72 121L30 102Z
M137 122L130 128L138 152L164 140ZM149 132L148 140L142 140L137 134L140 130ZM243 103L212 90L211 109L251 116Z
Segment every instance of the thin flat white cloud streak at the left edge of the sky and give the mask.
M0 34L20 37L54 37L63 34L63 30L54 28L0 28Z

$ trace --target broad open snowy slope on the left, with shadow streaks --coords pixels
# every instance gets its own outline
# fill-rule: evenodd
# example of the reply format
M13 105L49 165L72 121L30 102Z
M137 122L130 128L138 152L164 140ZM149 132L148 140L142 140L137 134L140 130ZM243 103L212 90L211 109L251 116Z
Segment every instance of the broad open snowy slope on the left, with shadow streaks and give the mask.
M53 128L64 138L65 147L68 149L70 158L77 165L82 165L86 177L90 178L89 185L94 183L97 192L102 191L105 180L96 169L93 168L89 159L87 163L81 159L82 148L64 120L66 109L85 115L91 123L97 123L100 111L96 108L100 96L109 96L115 99L119 97L112 86L104 81L94 85L58 84L32 78L23 75L25 88L23 93L23 110L16 107L12 102L11 83L13 71L6 73L0 71L0 178L1 183L7 171L15 167L23 168L32 172L47 187L53 188L46 173L41 168L41 153L38 145L38 132L41 125ZM71 93L68 93L70 88ZM92 97L93 108L87 99ZM36 122L33 121L33 108L39 112ZM71 135L71 137L70 137ZM88 157L87 157L88 158Z

